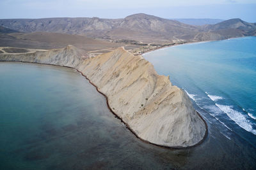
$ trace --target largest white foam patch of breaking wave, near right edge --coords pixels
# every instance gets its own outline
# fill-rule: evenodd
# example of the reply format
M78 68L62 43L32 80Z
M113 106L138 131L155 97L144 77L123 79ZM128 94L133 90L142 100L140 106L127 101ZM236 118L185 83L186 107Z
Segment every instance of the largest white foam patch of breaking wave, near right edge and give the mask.
M224 111L229 118L234 120L234 122L236 122L237 125L242 127L244 130L252 132L253 134L256 135L256 130L252 128L250 121L247 120L242 113L234 110L233 106L226 106L221 104L216 104L216 106L218 106L222 111Z

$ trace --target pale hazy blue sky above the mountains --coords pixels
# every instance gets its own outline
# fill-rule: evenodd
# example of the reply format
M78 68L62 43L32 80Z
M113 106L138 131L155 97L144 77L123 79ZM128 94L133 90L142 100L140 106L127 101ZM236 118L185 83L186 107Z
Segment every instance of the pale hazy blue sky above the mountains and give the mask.
M0 0L0 18L241 18L256 22L256 0Z

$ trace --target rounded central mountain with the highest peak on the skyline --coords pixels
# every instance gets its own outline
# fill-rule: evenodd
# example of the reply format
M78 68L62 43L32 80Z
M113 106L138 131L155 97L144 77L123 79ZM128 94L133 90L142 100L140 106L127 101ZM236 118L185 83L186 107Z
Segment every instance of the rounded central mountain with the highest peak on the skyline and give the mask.
M125 17L108 35L111 39L125 39L129 35L129 39L150 43L156 39L173 41L175 36L195 36L197 31L198 29L191 25L140 13Z

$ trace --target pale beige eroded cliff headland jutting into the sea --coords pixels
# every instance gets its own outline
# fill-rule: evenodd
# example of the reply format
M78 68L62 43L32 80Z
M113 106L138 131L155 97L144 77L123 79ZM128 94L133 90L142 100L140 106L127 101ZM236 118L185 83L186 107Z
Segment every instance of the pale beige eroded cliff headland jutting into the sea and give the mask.
M108 97L109 107L139 138L168 147L193 146L207 131L183 90L160 76L150 62L118 48L84 59L73 46L0 60L54 64L77 69Z

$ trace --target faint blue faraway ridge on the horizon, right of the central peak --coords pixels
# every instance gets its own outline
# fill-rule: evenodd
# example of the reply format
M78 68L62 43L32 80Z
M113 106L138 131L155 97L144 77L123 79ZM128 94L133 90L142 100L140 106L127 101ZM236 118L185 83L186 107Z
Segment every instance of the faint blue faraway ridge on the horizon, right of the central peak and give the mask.
M211 18L172 18L170 20L177 20L184 24L189 25L209 25L209 24L218 24L219 22L223 22L221 19L211 19Z

